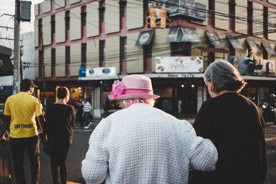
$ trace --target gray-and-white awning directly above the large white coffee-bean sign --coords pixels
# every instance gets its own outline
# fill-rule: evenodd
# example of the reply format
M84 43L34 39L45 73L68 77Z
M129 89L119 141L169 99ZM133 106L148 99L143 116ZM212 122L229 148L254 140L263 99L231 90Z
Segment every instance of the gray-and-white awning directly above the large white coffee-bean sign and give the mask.
M195 28L174 26L170 27L166 43L172 42L192 42L200 43L200 39L197 35Z

